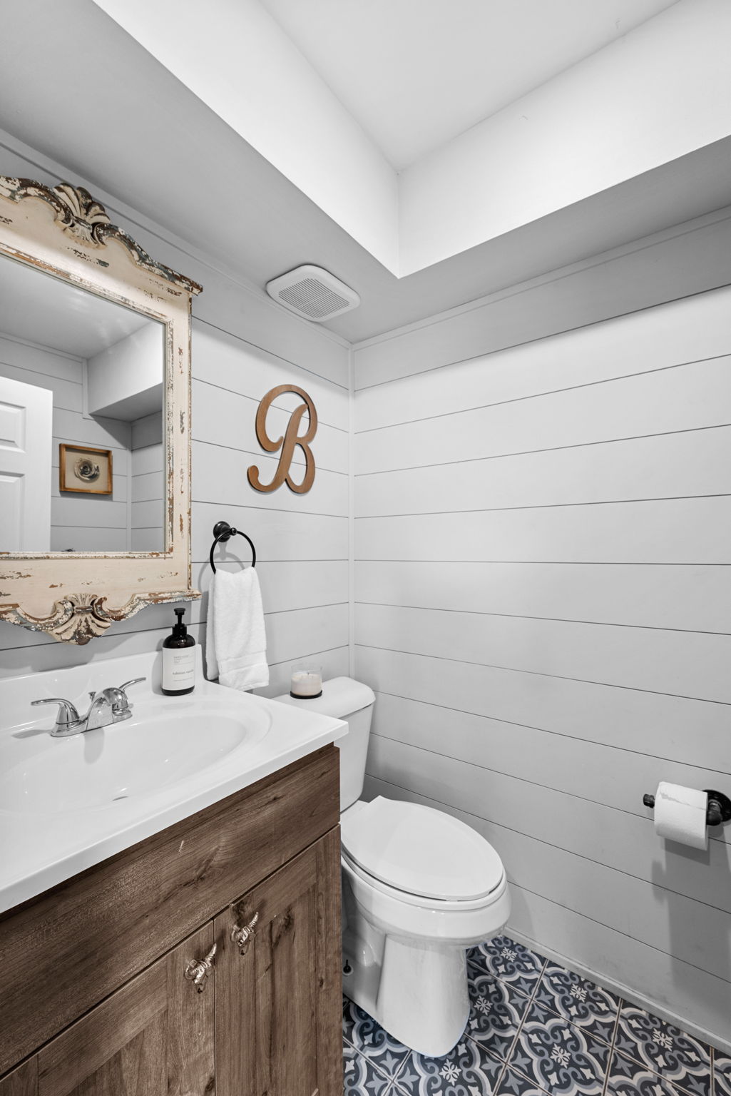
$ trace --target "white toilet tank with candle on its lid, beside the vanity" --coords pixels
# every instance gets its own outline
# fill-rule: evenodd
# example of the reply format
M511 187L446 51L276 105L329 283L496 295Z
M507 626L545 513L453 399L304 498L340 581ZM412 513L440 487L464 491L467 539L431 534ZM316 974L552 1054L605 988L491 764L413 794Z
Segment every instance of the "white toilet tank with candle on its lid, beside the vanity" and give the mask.
M347 734L335 745L340 750L340 809L344 811L351 807L363 791L370 717L376 699L373 689L352 677L333 677L322 682L322 696L311 700L300 700L288 693L274 699L345 720Z

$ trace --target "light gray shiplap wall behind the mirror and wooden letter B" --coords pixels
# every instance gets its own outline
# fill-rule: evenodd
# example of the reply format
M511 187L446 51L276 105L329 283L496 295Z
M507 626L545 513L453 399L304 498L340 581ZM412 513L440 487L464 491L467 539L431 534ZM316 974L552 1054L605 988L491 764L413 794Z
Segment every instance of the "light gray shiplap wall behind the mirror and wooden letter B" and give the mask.
M77 172L54 169L45 158L31 160L22 152L16 142L5 140L0 172L49 184L69 179L89 186L150 254L204 287L193 302L193 583L204 591L203 600L189 607L193 635L202 639L205 632L212 529L225 518L244 529L256 546L271 665L265 692L283 692L289 663L309 655L317 655L328 676L347 673L347 347L242 286L204 256L191 254L182 241L100 193ZM259 464L264 478L275 461L259 449L256 406L270 388L287 381L305 388L318 409L320 426L312 444L316 482L305 495L286 487L260 494L249 487L247 468ZM286 407L286 397L282 404ZM285 418L283 411L279 419ZM270 429L274 425L272 419ZM142 498L142 480L140 471L139 484L133 488L140 504L151 501ZM247 543L241 537L236 541L229 559L248 562ZM217 558L226 559L221 549ZM148 607L81 648L0 623L0 675L153 650L173 621L172 606Z

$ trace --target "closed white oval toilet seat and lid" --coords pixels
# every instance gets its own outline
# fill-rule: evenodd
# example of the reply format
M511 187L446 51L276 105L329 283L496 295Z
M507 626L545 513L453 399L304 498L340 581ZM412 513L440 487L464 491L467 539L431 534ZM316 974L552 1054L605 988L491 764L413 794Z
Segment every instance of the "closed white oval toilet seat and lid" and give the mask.
M470 826L421 803L385 799L341 819L347 867L377 890L412 905L476 909L504 882L502 861Z

